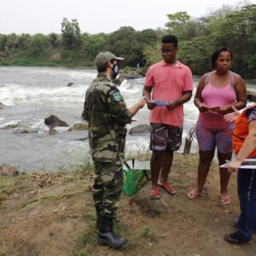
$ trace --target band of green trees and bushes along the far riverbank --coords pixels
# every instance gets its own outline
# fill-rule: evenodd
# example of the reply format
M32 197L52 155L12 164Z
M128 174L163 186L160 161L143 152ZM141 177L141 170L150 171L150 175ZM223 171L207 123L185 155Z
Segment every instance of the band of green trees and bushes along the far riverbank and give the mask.
M194 74L210 71L212 51L227 46L234 54L233 70L244 79L256 78L256 4L247 1L200 18L184 11L168 14L165 27L157 30L121 26L115 32L89 34L81 32L78 20L63 18L59 34L0 34L0 65L93 67L96 54L108 49L125 57L126 69L146 71L160 61L159 42L167 33L177 35L178 58Z

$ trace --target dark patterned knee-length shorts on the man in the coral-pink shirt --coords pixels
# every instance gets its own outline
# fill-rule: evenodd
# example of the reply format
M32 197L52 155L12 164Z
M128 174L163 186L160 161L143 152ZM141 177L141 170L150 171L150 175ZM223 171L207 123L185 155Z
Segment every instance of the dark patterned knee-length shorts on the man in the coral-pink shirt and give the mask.
M183 127L151 123L150 145L152 151L177 151L182 143Z

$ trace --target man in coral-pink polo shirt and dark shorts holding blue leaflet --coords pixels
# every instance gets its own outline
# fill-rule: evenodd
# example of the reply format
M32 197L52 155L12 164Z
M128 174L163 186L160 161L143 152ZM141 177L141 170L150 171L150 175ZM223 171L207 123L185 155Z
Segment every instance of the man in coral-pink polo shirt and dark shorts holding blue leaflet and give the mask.
M192 96L193 80L189 67L177 61L177 38L166 35L161 40L163 60L148 68L143 96L150 113L151 198L160 199L159 187L174 195L168 183L173 151L181 146L183 103ZM159 180L160 176L160 180Z

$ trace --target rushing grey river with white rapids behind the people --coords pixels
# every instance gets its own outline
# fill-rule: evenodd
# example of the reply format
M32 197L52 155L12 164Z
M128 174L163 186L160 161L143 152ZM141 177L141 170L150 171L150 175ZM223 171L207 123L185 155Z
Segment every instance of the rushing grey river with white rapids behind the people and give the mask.
M65 67L0 67L0 166L10 164L20 172L33 170L54 171L68 169L89 157L87 131L67 131L57 128L49 135L44 118L55 114L69 126L83 122L85 90L96 78L93 69ZM119 90L131 107L142 96L144 79L125 80ZM194 77L195 86L198 77ZM73 83L72 86L67 86ZM249 86L255 86L249 84ZM195 93L195 90L194 90ZM184 105L183 143L187 132L195 125L198 111L190 100ZM127 128L148 124L149 111L145 107L135 116L136 121ZM20 123L33 132L19 133L4 129L6 125ZM82 139L82 140L81 140ZM148 134L130 135L126 140L126 155L148 151ZM197 150L196 140L192 151ZM183 146L180 151L183 151Z

